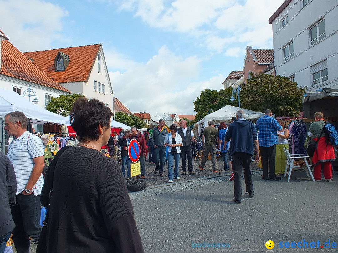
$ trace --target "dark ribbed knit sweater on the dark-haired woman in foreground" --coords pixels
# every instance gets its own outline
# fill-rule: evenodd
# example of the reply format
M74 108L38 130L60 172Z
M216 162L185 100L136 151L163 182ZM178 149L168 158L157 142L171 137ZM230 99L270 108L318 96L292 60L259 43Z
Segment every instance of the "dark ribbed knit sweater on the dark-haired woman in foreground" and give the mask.
M48 204L51 177L41 203ZM95 149L68 148L57 161L47 225L53 252L144 252L117 163Z

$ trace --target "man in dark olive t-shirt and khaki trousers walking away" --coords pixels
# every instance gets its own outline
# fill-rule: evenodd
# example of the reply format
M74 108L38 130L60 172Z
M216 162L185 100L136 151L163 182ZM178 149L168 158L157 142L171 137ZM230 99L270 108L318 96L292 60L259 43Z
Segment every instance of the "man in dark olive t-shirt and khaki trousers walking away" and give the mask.
M210 153L211 157L211 166L212 172L217 172L217 160L216 160L216 149L218 149L218 130L215 128L215 122L209 121L209 126L204 128L202 133L202 142L203 142L203 152L202 160L198 168L200 170L204 169L204 165L207 162L208 154Z

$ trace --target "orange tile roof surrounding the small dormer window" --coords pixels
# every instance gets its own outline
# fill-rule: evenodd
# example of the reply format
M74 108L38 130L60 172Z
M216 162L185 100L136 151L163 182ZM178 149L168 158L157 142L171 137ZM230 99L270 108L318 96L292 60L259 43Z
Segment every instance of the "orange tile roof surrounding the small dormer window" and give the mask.
M72 48L26 52L24 55L32 58L34 63L57 83L86 82L89 78L90 71L100 46L101 44L96 44ZM69 64L65 71L55 72L54 59L59 51L69 56Z

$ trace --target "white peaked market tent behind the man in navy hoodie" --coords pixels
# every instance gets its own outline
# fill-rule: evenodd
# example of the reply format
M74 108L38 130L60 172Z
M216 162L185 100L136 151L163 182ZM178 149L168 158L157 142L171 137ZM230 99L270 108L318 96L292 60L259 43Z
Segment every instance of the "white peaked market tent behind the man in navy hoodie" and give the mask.
M201 125L204 122L204 126L208 126L209 121L214 121L216 124L222 121L224 121L225 123L231 123L231 118L233 116L236 116L236 112L238 110L243 110L245 112L245 118L250 120L257 119L260 117L261 114L264 114L261 112L255 112L236 106L226 105L213 113L205 115L204 119L201 119L197 123L198 125Z

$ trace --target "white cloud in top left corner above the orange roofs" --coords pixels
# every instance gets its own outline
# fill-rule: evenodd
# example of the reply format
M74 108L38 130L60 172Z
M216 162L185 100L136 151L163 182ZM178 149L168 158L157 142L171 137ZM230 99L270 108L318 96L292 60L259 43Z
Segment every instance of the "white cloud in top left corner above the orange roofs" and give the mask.
M41 0L0 0L1 30L21 52L49 49L63 40L62 19L68 11Z

